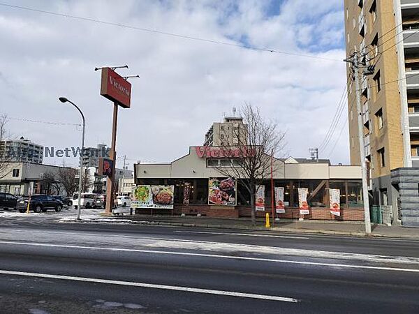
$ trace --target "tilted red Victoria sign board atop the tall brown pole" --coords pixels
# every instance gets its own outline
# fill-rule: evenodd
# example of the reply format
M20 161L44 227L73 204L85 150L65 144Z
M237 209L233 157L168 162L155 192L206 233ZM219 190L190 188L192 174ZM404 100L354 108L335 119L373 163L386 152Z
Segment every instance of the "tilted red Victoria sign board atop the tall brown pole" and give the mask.
M101 95L124 108L131 107L131 84L110 68L102 68Z

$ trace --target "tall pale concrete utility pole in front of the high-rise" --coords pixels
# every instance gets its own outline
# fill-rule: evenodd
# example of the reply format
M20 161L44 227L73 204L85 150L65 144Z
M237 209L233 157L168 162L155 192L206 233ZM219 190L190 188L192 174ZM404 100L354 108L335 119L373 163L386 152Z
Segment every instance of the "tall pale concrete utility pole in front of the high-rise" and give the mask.
M351 63L353 74L355 76L355 97L356 97L356 111L358 112L358 138L360 143L360 161L362 170L362 197L364 199L364 220L365 220L365 233L371 234L371 219L369 217L369 195L367 184L367 162L364 150L364 131L362 124L362 107L361 107L361 94L360 94L360 77L359 77L359 63L358 52L344 61Z

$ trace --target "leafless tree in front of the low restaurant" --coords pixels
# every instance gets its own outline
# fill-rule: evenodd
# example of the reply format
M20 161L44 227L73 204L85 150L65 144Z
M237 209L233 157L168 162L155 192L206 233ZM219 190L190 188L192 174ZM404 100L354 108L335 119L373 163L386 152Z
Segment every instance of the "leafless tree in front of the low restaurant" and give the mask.
M221 134L228 149L235 149L238 154L232 154L232 167L217 167L219 173L226 177L237 179L250 195L251 220L256 223L255 196L256 186L263 179L270 177L271 156L278 155L284 149L285 133L278 129L277 122L267 121L260 116L260 109L245 104L240 113L244 126L233 127L233 130L223 130ZM228 154L225 154L228 156ZM278 163L273 163L273 171Z

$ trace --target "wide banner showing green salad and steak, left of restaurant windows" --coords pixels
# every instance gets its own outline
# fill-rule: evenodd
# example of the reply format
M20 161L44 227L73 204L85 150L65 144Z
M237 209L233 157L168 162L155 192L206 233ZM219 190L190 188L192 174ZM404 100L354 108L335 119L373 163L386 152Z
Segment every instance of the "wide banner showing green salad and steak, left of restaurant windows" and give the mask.
M133 208L173 209L175 186L135 186L133 187Z

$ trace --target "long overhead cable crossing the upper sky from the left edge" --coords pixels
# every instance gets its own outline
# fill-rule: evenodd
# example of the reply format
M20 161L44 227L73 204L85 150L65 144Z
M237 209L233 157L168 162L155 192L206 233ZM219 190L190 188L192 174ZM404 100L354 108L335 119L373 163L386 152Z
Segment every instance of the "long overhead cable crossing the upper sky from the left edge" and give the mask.
M314 55L311 55L311 54L299 54L297 52L284 52L284 51L275 50L275 49L267 48L267 47L251 47L251 46L243 45L243 44L239 44L239 43L228 43L228 42L225 42L225 41L212 40L212 39L207 39L207 38L200 38L200 37L196 37L196 36L182 35L182 34L179 34L179 33L170 33L168 31L158 31L156 29L149 29L149 28L145 28L145 27L135 27L135 26L132 26L132 25L126 25L126 24L121 24L121 23L108 22L108 21L103 21L103 20L96 20L96 19L90 18L90 17L80 17L80 16L77 16L77 15L69 15L69 14L57 13L57 12L52 12L52 11L47 11L47 10L39 10L39 9L36 9L36 8L29 8L29 7L26 7L26 6L14 6L14 5L8 4L8 3L0 3L0 6L4 6L4 7L7 7L7 8L16 8L16 9L20 9L20 10L29 10L29 11L34 11L34 12L38 12L38 13L56 15L56 16L60 16L60 17L67 17L67 18L71 18L71 19L75 19L75 20L95 22L95 23L98 23L98 24L106 24L106 25L111 25L111 26L116 26L116 27L124 27L126 29L135 29L137 31L147 31L149 33L159 33L159 34L165 35L165 36L172 36L172 37L183 38L183 39L188 39L188 40L203 41L205 43L214 43L214 44L217 44L217 45L227 45L227 46L233 46L233 47L241 47L241 48L245 48L245 49L249 49L249 50L272 52L272 53L277 53L277 54L288 54L290 56L319 59L319 60L324 60L324 61L341 62L341 60L338 60L338 59L318 57L318 56L314 56Z

